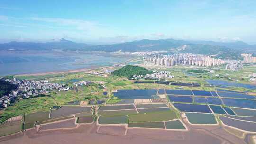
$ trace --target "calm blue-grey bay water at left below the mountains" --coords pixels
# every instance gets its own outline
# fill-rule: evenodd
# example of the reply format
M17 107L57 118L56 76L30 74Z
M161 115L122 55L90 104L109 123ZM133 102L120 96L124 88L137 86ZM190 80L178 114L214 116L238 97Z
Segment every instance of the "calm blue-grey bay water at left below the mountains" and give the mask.
M133 58L128 55L89 52L0 52L0 75L59 72L111 66Z

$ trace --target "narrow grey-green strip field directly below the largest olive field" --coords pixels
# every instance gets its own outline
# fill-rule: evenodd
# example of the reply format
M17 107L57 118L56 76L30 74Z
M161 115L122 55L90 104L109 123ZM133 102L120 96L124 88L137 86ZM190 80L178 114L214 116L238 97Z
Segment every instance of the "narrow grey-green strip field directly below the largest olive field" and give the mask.
M142 122L142 123L129 123L128 127L142 127L142 128L165 128L164 122Z

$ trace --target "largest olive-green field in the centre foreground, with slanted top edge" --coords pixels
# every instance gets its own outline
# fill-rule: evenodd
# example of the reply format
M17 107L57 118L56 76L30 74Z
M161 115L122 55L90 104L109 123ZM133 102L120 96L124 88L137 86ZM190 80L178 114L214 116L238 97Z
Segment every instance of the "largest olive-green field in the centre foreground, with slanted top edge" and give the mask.
M129 122L168 121L178 118L174 111L160 111L145 114L129 115Z

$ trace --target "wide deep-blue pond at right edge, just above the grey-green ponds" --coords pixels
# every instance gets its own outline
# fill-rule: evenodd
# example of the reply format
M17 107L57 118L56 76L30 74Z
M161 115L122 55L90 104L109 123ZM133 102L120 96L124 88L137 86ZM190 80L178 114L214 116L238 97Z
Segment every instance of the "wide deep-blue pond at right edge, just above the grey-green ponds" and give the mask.
M224 104L229 107L256 109L256 100L222 98Z

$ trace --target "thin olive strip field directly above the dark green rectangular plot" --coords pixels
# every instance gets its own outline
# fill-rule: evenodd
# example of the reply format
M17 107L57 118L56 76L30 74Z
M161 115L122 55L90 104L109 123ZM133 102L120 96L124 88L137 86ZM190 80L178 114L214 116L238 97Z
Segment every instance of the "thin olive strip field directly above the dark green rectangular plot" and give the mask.
M117 111L98 111L101 116L125 116L130 114L137 114L135 109L130 110L117 110Z

